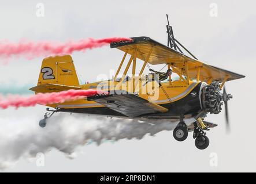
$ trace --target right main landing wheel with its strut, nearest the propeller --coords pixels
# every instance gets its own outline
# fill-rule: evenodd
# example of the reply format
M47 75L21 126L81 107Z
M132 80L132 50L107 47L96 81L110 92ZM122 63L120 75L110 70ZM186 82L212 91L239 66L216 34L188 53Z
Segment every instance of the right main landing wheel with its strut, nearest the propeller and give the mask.
M205 150L210 144L210 141L208 137L206 136L206 133L203 131L202 128L198 127L197 122L194 122L194 133L193 138L195 139L195 146L199 150Z

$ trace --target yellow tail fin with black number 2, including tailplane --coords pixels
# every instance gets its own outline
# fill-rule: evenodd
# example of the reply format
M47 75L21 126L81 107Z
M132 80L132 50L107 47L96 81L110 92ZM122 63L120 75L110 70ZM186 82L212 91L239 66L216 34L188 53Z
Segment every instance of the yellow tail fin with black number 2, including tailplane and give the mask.
M46 86L48 86L47 89L44 89ZM70 55L43 59L38 86L32 87L30 90L45 93L49 92L51 88L51 92L53 92L53 86L55 86L55 91L79 88L77 87L79 81L75 66Z

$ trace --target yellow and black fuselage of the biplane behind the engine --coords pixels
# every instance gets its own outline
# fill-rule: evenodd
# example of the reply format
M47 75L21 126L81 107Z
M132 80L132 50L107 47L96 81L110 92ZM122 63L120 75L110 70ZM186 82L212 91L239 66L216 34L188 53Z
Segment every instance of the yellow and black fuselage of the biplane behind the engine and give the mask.
M201 82L177 80L173 82L162 82L161 86L159 86L155 85L153 82L146 83L141 80L138 80L136 83L135 80L134 88L131 83L132 82L125 81L120 84L118 81L113 82L109 80L80 85L80 87L85 90L120 90L121 87L122 90L136 94L141 98L168 109L168 112L165 113L144 114L142 117L175 117L180 116L181 113L184 115L190 114L195 116L195 114L202 109ZM98 104L95 101L88 101L87 98L50 106L53 108L60 108L58 110L60 112L87 113L127 118L123 114Z

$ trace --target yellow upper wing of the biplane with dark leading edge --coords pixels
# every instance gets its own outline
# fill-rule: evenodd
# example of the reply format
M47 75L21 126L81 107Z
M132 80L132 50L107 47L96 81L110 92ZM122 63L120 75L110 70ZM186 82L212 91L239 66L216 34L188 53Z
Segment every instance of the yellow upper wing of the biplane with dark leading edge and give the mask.
M188 75L190 78L196 78L198 68L200 68L200 81L231 81L234 79L244 78L244 75L236 74L235 72L223 70L218 67L211 66L210 64L203 63L199 60L192 59L177 52L172 48L158 43L149 37L132 37L132 42L121 41L118 43L111 43L111 48L118 48L121 51L127 52L132 55L136 49L138 57L141 60L147 60L150 64L172 64L180 70L184 68L184 63L188 64ZM150 54L150 56L148 56Z

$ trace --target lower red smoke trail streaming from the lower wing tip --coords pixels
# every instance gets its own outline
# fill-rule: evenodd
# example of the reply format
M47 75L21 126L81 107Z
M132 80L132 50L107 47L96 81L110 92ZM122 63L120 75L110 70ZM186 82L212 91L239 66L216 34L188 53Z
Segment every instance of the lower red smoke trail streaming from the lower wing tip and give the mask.
M6 99L0 98L0 108L6 109L10 106L19 108L35 106L36 104L58 104L65 101L72 101L84 97L90 97L96 94L107 94L107 92L100 90L67 90L61 91L59 93L38 93L31 97L12 95Z

